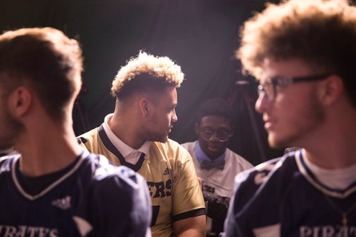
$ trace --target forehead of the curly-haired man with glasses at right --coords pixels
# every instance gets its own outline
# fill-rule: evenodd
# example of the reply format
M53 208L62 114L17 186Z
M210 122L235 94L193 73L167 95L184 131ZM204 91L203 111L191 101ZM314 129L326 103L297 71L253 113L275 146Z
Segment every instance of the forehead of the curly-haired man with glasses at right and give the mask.
M315 73L311 65L298 58L288 60L265 58L261 69L260 83L263 83L267 78L276 76L300 77Z

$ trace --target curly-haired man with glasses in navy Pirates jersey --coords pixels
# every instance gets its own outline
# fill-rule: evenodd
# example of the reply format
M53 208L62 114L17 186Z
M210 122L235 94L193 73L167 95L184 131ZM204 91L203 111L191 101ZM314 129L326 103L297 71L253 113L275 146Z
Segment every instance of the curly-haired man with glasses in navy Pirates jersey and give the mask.
M300 149L236 177L225 236L355 236L356 7L268 4L241 37L269 145Z

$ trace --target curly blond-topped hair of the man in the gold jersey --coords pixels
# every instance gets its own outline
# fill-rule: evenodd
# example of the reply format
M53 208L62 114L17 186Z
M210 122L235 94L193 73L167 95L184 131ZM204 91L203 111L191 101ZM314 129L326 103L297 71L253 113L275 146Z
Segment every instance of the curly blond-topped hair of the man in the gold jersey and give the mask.
M164 87L180 87L184 80L181 67L169 57L155 57L140 51L117 72L111 94L127 99L135 92L160 92Z

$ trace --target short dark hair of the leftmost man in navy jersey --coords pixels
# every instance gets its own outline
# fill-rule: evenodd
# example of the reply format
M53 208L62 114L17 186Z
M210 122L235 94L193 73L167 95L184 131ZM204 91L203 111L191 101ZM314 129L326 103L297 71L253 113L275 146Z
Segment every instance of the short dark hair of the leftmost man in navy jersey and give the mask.
M83 70L77 40L54 28L22 28L0 35L0 82L13 90L28 84L49 116L62 119L78 94ZM9 76L10 80L2 77Z

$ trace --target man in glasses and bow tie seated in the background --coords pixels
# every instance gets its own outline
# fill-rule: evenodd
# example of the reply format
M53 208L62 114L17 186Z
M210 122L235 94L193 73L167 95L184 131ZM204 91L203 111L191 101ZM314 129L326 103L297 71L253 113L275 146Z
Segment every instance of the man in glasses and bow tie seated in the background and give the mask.
M208 236L223 232L227 207L234 189L234 177L253 165L228 147L234 133L234 116L224 99L208 99L199 106L195 131L198 140L184 143L194 160L207 202Z

